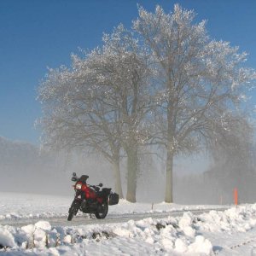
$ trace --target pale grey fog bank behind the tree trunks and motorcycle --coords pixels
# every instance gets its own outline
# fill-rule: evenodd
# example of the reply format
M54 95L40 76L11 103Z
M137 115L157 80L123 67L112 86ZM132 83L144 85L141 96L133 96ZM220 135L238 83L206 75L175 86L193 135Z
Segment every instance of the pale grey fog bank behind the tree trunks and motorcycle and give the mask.
M232 161L231 161L232 163ZM237 166L236 162L234 164ZM218 169L218 166L219 167ZM126 192L125 158L121 164ZM256 175L247 168L216 164L207 155L180 156L174 163L174 202L182 204L230 204L238 188L240 202L255 201ZM137 180L137 201L164 201L166 173L163 162L146 155L141 160ZM239 172L238 172L239 171ZM113 188L113 172L97 154L49 153L30 143L0 137L0 191L49 195L73 195L71 176L89 175L88 183Z

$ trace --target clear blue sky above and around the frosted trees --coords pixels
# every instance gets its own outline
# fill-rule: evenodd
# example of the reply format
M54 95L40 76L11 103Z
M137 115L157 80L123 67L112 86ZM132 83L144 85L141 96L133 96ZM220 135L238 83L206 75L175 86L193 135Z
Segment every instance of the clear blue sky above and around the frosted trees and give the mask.
M247 66L256 69L255 0L1 0L0 136L38 144L37 87L47 67L69 65L72 52L101 44L102 32L120 22L131 26L137 3L148 10L160 4L170 11L174 3L195 9L196 20L208 20L212 38L240 46L250 54Z

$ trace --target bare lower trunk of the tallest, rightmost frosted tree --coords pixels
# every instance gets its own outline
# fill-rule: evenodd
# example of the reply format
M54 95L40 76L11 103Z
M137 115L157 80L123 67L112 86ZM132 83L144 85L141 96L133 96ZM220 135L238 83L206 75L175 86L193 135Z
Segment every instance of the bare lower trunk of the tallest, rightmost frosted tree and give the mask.
M172 203L172 166L173 166L173 153L172 151L167 151L166 160L166 198L167 203Z

